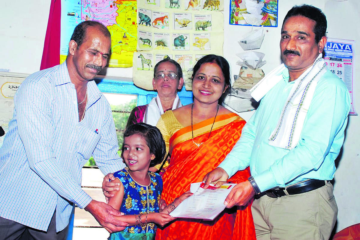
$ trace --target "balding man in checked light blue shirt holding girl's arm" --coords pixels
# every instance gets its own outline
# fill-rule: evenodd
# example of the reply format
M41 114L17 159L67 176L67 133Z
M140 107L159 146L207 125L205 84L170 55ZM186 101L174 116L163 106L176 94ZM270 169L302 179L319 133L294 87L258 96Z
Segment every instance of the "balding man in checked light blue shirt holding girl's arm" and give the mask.
M14 97L14 116L0 149L0 238L66 239L74 204L109 232L121 213L81 189L94 156L107 174L125 167L111 108L92 80L107 65L111 37L103 24L80 23L61 65L31 74Z

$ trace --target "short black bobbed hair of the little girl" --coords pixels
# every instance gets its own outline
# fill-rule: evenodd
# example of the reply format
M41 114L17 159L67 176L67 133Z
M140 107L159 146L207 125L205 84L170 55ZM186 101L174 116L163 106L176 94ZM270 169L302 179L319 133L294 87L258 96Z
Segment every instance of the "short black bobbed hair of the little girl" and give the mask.
M162 160L164 160L166 154L165 141L161 135L160 130L157 127L151 126L143 122L132 124L126 128L124 132L124 139L125 137L134 134L139 134L140 136L143 136L146 144L150 149L150 154L155 155L155 158L150 162L150 167L154 167L157 164L161 163ZM122 153L123 151L124 146L122 146L121 148Z

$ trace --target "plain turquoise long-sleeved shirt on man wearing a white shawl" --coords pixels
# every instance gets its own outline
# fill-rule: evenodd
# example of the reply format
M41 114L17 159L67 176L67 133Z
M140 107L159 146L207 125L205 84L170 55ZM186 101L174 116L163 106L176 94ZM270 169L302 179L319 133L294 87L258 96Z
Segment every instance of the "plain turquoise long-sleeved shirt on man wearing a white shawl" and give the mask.
M269 137L292 85L300 81L288 82L287 69L280 74L283 81L261 99L239 141L219 165L229 176L250 166L261 191L306 179L333 179L334 160L344 141L350 111L350 96L345 84L327 70L316 85L297 146L286 150L269 145Z

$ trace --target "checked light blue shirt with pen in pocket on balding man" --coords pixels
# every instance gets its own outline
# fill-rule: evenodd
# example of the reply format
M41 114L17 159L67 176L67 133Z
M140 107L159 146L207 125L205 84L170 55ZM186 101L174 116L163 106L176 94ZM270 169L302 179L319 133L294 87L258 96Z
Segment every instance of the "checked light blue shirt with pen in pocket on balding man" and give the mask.
M75 85L66 63L31 74L14 97L14 115L0 149L0 216L46 231L56 209L57 231L72 203L84 208L82 167L93 155L107 174L125 167L118 156L108 101L89 81L85 117L78 122Z

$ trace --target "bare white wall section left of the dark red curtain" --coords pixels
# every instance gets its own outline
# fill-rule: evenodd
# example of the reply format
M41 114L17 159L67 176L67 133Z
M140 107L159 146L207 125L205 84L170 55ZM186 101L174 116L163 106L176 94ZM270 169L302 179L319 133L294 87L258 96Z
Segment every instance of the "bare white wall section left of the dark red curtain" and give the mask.
M1 69L18 73L39 71L49 10L49 0L1 4Z

